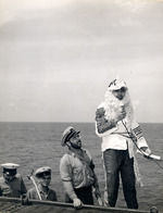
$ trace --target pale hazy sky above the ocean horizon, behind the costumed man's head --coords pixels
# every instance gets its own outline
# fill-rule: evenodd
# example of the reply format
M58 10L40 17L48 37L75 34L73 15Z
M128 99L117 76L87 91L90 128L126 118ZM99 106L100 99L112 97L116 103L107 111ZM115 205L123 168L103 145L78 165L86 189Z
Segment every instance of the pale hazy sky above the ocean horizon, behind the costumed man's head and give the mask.
M118 75L163 123L162 0L0 0L0 122L95 122Z

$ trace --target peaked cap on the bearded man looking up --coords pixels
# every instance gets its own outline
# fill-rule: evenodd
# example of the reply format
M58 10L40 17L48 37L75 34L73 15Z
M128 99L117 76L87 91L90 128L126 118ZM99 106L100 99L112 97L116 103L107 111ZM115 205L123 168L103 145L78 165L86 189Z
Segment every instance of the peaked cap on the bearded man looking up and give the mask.
M67 127L63 135L62 135L62 141L61 141L61 145L64 147L65 143L74 136L74 135L78 135L80 131L76 131L74 129L74 127L70 126Z

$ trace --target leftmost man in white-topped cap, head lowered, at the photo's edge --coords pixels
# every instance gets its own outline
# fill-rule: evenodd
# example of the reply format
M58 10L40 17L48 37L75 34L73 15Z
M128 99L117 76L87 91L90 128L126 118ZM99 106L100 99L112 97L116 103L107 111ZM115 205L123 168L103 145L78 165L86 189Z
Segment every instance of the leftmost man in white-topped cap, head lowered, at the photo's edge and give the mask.
M3 177L0 178L0 196L21 198L26 193L26 187L23 178L17 174L18 164L5 163L3 167Z

